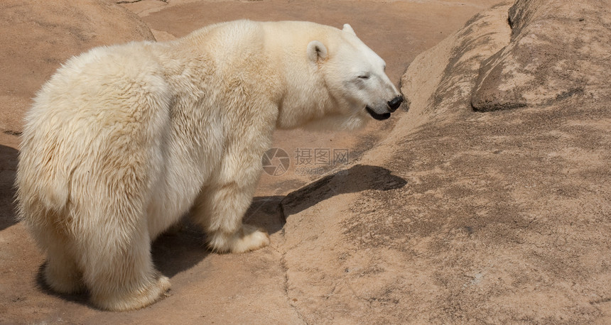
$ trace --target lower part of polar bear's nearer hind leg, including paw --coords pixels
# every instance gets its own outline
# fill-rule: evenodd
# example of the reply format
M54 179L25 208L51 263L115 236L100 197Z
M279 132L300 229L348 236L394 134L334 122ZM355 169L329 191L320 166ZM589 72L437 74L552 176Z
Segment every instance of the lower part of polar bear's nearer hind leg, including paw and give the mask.
M146 228L130 235L109 231L88 237L83 280L92 303L101 309L122 312L146 307L170 289L168 277L153 267Z

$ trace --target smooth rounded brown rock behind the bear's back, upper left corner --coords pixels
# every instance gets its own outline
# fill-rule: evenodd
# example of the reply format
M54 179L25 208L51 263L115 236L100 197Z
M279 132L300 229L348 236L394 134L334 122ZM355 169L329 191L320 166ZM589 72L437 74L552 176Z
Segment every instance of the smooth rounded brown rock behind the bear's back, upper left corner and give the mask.
M0 131L21 132L42 84L72 55L130 40L155 40L136 14L112 1L0 2Z

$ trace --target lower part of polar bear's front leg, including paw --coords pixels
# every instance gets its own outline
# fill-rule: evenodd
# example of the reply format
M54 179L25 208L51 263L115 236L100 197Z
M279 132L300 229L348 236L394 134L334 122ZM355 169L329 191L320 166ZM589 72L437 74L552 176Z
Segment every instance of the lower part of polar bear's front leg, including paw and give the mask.
M242 224L252 201L253 189L235 183L203 189L192 211L208 236L208 246L220 253L243 253L269 245L269 235L254 226Z

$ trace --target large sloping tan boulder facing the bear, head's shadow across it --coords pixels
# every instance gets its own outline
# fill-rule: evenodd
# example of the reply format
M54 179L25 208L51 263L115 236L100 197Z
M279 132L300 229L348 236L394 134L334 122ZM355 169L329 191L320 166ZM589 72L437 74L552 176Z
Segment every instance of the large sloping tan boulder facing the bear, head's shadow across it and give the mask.
M490 80L515 89L507 103L523 108L471 105L474 89L496 87L486 81L494 57L526 62L520 40L533 38L537 15L573 11L520 0L475 16L412 62L402 79L409 113L359 165L283 199L286 291L306 322L611 321L608 60L581 62L581 48L566 48L519 70L536 87L500 69ZM571 33L600 12L547 23ZM566 41L556 31L536 39ZM590 79L546 77L556 71L546 67L577 65ZM537 87L549 92L536 97Z

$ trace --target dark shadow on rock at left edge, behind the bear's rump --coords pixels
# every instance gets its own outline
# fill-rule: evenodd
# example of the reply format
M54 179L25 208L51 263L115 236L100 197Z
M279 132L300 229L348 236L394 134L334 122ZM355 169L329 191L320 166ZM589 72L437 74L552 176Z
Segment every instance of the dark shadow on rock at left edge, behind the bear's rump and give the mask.
M0 145L0 231L17 223L13 205L17 158L17 150Z

